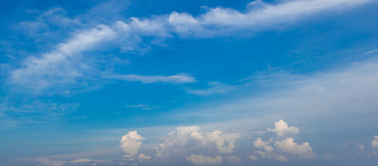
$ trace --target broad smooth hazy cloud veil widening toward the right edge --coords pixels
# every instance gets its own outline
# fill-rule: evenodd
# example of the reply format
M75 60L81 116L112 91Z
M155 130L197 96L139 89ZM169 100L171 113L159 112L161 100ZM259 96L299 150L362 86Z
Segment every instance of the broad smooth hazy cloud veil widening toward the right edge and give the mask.
M270 91L263 93L247 93L238 98L227 99L225 104L209 103L187 113L173 114L175 120L229 120L214 122L216 126L251 126L281 117L296 122L306 122L316 126L321 118L323 122L334 124L332 129L350 127L354 122L361 127L371 127L377 116L372 115L378 107L373 99L378 98L376 84L378 84L378 62L370 59L365 62L355 62L343 68L322 73L287 77L292 79L270 80ZM270 77L268 77L270 78ZM262 85L264 86L264 85ZM260 85L251 86L258 89ZM247 86L244 89L249 89ZM246 90L247 91L247 90ZM343 118L334 119L338 116ZM366 118L353 118L363 116ZM317 118L315 118L317 117ZM348 120L347 120L348 119ZM337 124L335 124L337 123ZM213 124L209 124L213 125ZM353 127L356 127L353 124ZM319 127L320 128L320 127Z

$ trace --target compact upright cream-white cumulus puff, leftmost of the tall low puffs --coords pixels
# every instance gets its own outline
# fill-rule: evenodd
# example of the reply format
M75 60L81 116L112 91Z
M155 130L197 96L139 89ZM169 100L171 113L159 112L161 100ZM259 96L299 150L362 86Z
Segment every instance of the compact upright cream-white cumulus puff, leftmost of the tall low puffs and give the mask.
M133 158L140 149L144 138L140 136L137 131L129 131L126 135L122 136L120 140L122 151L126 154L124 157Z

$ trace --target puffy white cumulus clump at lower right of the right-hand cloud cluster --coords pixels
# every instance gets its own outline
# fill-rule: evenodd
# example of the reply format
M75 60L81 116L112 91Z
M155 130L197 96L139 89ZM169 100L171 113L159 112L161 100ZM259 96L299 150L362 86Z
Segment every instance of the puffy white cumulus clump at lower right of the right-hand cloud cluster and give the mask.
M285 140L277 141L274 147L284 153L294 154L300 158L314 158L316 156L308 142L298 145L294 142L294 138L286 138Z

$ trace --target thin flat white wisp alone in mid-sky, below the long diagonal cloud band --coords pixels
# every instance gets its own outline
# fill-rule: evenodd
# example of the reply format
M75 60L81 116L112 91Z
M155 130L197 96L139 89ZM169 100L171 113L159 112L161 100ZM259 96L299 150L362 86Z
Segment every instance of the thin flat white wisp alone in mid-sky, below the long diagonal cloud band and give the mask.
M192 77L191 75L180 73L177 75L114 75L109 78L113 78L116 80L124 80L124 81L138 81L143 82L144 84L154 83L154 82L164 82L164 83L173 83L173 84L185 84L185 83L192 83L196 82L196 78Z

